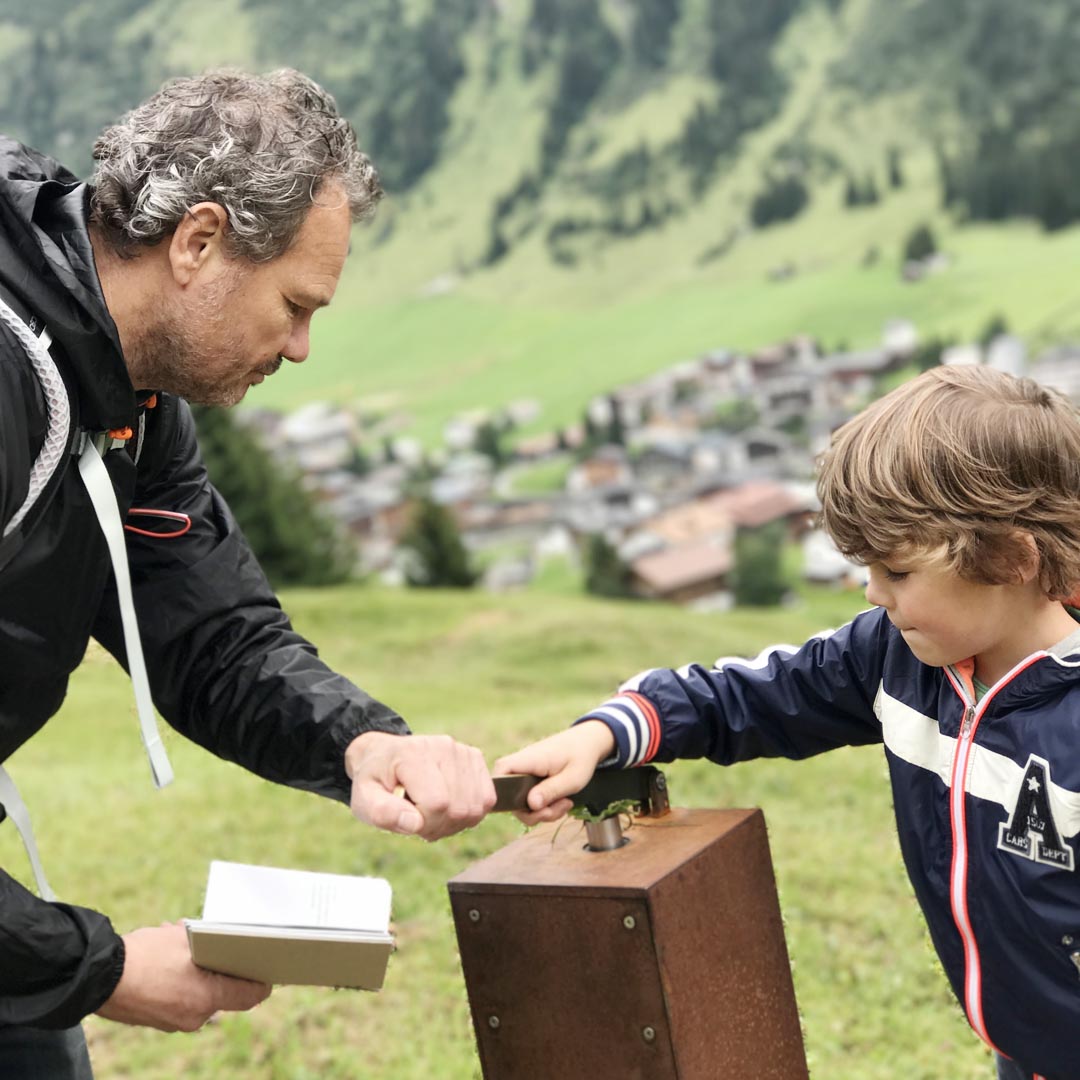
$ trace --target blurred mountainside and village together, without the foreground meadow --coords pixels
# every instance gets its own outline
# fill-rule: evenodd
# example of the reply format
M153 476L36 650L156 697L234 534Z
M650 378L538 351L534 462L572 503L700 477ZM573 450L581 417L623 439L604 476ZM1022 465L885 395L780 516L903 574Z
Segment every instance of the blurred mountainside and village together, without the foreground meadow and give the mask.
M745 580L869 397L943 353L1080 388L1071 0L3 0L0 27L0 127L82 175L221 65L311 75L376 162L311 362L201 419L282 584L773 603L798 563L847 573L811 536ZM259 447L306 497L231 480Z

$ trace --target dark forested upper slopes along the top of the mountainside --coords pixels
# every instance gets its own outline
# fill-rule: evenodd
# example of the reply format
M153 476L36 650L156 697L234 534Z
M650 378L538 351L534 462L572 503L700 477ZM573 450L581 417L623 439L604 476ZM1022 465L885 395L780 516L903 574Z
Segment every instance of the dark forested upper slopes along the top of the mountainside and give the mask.
M793 80L778 43L813 8L835 38L822 110L905 98L916 126L904 141L935 150L949 201L1049 227L1080 215L1065 183L1080 156L1076 0L3 0L0 123L85 168L94 134L163 78L200 59L289 64L335 92L387 187L403 192L454 153L450 107L470 71L496 97L521 79L541 116L521 175L491 206L487 254L503 253L515 211L556 183L605 211L550 222L557 253L576 230L654 228L700 198L741 137L781 110ZM666 131L596 152L605 122L687 79L696 93L673 97ZM778 147L772 186L858 164L814 138L815 119ZM582 127L589 138L576 138Z

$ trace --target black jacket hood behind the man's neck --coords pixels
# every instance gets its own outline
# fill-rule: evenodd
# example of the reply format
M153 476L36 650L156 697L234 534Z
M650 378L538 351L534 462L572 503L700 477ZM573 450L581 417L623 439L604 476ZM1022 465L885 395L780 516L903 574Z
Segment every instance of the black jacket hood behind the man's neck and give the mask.
M0 283L63 348L82 427L122 428L135 391L94 266L90 195L63 165L0 135Z

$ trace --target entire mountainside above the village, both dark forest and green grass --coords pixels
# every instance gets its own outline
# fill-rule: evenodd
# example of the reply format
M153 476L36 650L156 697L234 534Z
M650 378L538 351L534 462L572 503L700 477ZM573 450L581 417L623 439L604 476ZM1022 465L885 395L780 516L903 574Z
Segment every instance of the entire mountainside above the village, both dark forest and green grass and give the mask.
M1077 44L1080 0L0 0L0 127L85 173L171 75L324 82L391 198L321 375L264 401L393 394L434 426L467 373L497 404L523 365L588 366L589 392L716 345L867 342L894 314L1072 334ZM927 225L955 269L913 289Z

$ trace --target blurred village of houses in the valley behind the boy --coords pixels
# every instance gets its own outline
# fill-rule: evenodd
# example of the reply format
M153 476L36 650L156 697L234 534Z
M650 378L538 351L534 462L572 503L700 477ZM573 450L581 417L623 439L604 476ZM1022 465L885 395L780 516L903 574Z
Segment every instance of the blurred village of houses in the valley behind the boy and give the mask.
M242 417L353 538L364 576L504 590L561 559L592 592L723 610L781 603L796 578L862 586L863 568L814 527L814 461L892 386L937 363L985 363L1080 395L1080 350L1029 361L1004 330L997 321L980 342L920 342L893 320L860 351L806 337L718 348L582 402L572 427L544 431L540 406L522 400L455 418L435 450L394 434L393 416L328 403ZM426 580L421 507L460 537L464 580Z

